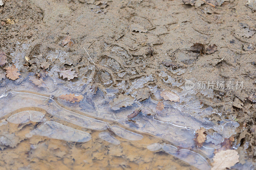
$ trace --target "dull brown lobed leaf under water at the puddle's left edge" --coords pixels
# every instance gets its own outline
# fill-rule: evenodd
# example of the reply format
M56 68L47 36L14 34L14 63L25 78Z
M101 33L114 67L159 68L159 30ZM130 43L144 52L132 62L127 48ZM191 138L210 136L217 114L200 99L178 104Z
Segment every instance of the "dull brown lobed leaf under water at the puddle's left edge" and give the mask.
M16 137L15 133L0 132L0 145L14 148L19 143L19 137Z

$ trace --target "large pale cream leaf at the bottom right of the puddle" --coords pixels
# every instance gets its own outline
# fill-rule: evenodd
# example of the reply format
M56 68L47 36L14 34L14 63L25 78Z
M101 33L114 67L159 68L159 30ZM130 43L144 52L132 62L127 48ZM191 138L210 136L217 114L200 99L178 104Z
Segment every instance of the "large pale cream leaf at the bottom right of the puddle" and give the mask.
M216 153L213 157L211 170L225 170L239 162L238 152L235 150L226 150Z

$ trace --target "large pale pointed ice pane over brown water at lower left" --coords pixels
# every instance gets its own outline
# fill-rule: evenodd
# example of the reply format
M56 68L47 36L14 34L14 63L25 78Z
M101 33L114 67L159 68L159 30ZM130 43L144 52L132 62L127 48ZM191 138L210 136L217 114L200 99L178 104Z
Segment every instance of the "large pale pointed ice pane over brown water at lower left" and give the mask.
M32 130L30 134L70 142L88 142L91 140L91 135L89 133L82 132L52 121L45 122L37 129Z

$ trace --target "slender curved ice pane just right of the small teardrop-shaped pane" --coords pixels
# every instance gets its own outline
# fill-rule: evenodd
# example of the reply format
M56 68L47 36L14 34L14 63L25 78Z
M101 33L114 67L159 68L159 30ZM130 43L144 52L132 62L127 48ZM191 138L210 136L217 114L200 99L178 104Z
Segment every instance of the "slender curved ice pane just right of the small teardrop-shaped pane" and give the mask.
M117 136L122 137L127 140L141 140L143 138L142 135L130 132L128 130L125 130L119 126L111 126L110 128Z

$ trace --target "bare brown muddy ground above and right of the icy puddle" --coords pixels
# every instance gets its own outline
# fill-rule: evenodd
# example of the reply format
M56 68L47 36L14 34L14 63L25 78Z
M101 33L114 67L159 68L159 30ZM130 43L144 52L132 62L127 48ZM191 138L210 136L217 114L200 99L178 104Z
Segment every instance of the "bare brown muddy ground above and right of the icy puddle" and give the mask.
M205 82L206 86L208 81L225 81L225 85L243 82L242 89L214 86L213 97L196 95L204 108L221 113L208 115L213 117L211 121L230 119L240 124L233 146L244 159L254 161L255 12L246 5L247 0L212 3L214 7L199 1L4 0L0 7L0 50L6 53L7 62L0 73L4 79L5 67L12 63L21 77L71 68L77 76L65 81L91 78L91 84L102 91L122 85L128 88L134 80L149 75L152 80L145 86L176 92L181 89L166 83L167 75L182 85L186 80ZM12 55L24 43L29 46L22 57ZM217 49L212 53L203 48L192 51L195 43L206 47L215 44ZM48 54L57 54L57 58ZM161 76L161 71L167 75ZM56 71L55 76L61 75ZM123 88L116 95L121 93ZM156 99L154 94L150 97ZM27 147L28 142L23 145Z

